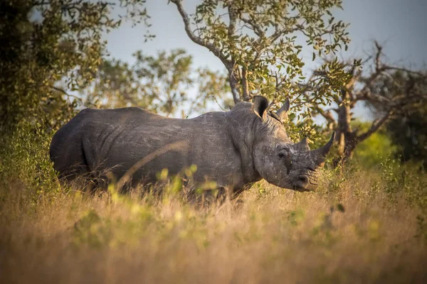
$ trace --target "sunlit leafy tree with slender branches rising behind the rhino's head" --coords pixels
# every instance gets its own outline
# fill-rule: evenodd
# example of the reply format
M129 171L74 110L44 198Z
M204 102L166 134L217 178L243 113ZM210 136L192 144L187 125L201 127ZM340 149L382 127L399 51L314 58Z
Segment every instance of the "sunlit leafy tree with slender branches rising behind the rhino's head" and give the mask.
M335 21L331 13L341 8L339 0L204 0L193 14L185 11L184 1L170 2L179 11L189 38L209 49L226 67L235 103L258 93L269 97L275 107L288 97L295 111L307 118L321 104L331 102L338 87L349 79L338 65L326 62L323 69L333 81L306 80L300 57L303 39L312 45L313 60L316 54L347 48L347 24ZM309 89L312 97L307 100L301 94Z

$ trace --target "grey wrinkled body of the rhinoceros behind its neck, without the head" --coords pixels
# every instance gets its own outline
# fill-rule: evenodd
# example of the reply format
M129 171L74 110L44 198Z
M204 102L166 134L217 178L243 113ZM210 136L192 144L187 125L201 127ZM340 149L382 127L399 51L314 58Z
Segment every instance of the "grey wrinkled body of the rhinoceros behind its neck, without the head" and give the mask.
M120 178L150 153L180 142L181 148L142 165L134 180L152 182L163 168L173 175L197 165L196 181L238 184L241 159L226 124L226 114L221 112L169 119L139 108L85 109L56 133L51 156L59 171L81 164L84 170L112 169Z

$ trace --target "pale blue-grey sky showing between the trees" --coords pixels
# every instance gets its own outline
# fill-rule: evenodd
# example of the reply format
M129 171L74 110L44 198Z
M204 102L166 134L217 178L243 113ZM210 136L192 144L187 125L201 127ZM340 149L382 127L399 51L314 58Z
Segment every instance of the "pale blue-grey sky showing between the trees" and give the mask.
M183 1L187 13L194 11L199 2ZM342 6L344 11L336 9L332 13L337 20L350 23L347 31L352 42L347 52L339 53L340 57L366 58L376 40L384 46L385 60L390 64L412 68L427 65L427 0L344 0ZM156 38L144 43L146 28L132 28L131 23L125 23L105 35L112 58L132 63L132 53L136 50L155 55L159 50L184 48L193 56L195 67L224 70L218 58L188 38L174 4L168 5L167 0L147 0L147 11L152 17L150 32ZM303 59L310 67L311 53ZM357 116L371 119L362 107L358 108Z

